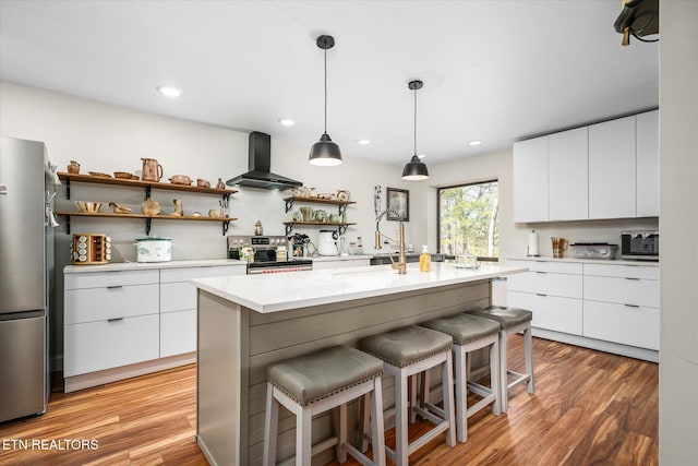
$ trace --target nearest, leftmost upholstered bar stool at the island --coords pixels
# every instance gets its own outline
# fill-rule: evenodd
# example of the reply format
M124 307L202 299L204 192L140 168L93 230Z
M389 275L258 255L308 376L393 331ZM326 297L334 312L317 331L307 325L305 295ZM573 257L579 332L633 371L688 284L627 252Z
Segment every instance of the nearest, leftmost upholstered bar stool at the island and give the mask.
M278 362L267 370L264 466L276 464L279 404L296 415L296 464L336 445L337 461L347 453L364 465L385 465L383 361L347 346L335 346ZM371 405L373 461L347 441L347 403L364 397ZM311 446L314 415L339 406L339 434Z

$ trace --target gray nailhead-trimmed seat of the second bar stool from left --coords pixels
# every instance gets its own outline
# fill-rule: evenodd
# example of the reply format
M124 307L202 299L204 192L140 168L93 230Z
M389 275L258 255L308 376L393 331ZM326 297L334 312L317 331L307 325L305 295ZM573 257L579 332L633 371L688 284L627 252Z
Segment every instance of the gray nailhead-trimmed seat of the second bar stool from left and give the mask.
M419 325L408 325L361 340L362 350L398 368L428 359L450 349L452 345L453 338L448 335Z

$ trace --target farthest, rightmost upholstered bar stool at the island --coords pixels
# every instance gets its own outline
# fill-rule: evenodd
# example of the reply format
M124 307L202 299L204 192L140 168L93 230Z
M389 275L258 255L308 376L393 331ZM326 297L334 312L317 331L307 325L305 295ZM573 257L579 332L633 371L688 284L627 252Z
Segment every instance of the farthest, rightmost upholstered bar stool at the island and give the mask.
M500 323L500 385L502 387L502 411L509 408L509 389L519 383L527 382L528 393L533 393L533 347L531 345L531 320L533 313L520 308L505 308L490 306L485 309L474 309L467 313L485 319L492 319ZM507 368L506 359L506 337L515 333L524 332L524 357L526 359L526 373L514 372ZM508 375L515 379L509 382Z

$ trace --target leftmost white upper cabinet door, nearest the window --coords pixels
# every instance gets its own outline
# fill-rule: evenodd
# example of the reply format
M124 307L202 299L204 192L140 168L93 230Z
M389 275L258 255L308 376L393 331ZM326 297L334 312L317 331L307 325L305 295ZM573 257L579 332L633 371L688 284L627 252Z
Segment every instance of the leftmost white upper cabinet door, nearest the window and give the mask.
M514 222L546 222L547 136L514 144Z

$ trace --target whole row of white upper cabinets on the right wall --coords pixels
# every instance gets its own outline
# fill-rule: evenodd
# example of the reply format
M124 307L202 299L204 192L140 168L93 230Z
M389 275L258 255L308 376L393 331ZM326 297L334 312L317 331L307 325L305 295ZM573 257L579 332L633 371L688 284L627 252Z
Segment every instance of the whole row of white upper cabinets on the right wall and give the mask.
M514 222L659 216L659 110L514 144Z

